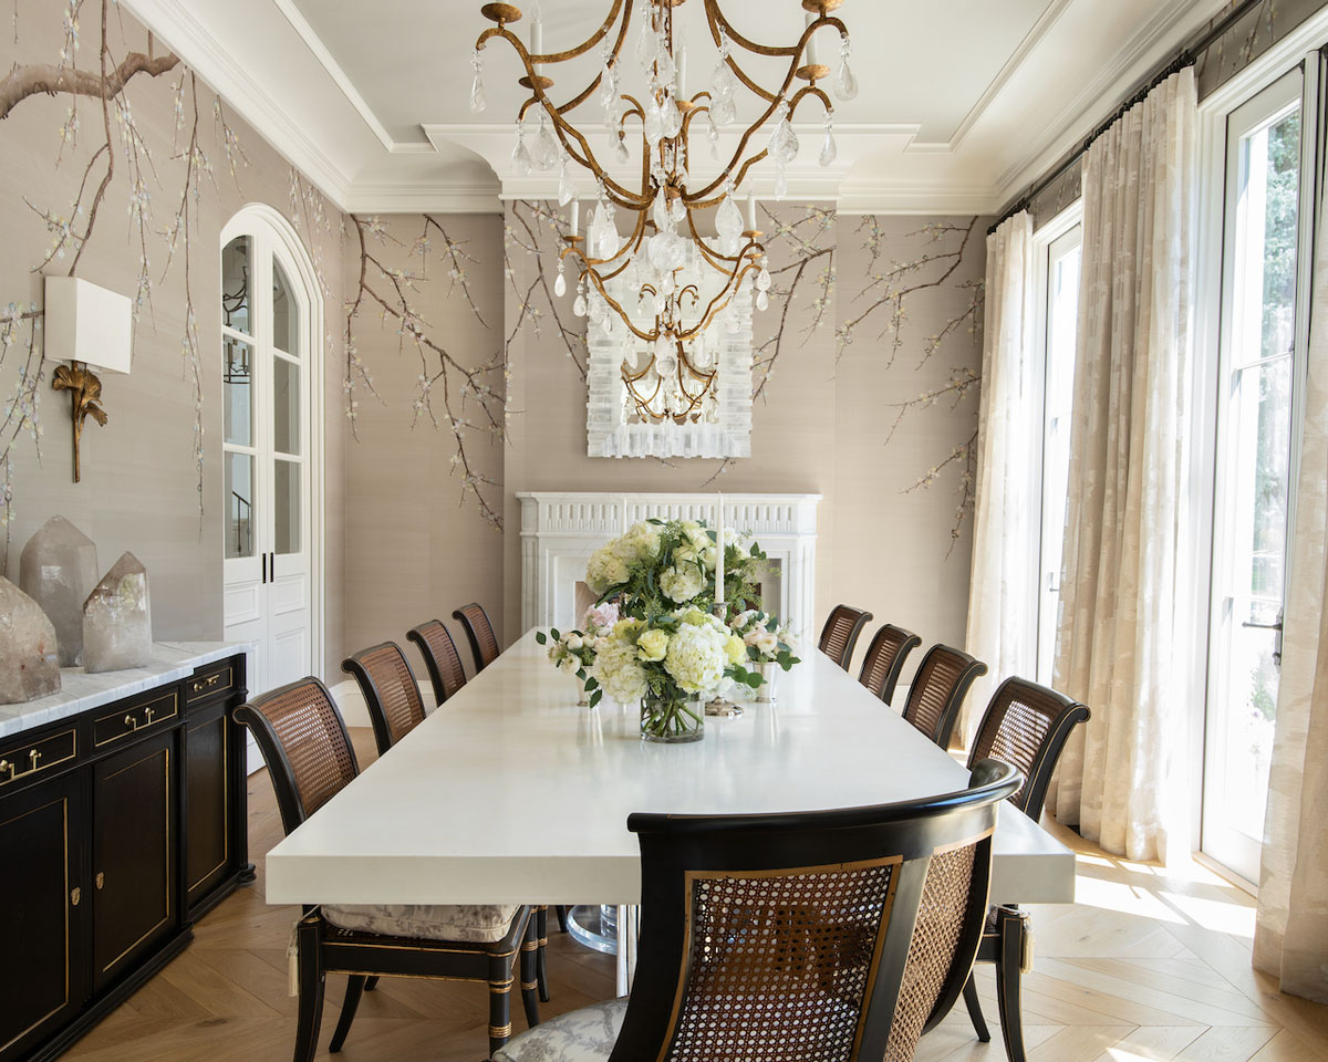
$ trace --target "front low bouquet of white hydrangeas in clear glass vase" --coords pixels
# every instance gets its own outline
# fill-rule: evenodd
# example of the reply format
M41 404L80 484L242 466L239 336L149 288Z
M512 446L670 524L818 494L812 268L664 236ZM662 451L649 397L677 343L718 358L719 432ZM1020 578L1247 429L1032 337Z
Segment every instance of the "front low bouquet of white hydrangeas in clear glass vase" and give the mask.
M641 706L645 741L697 741L705 733L703 704L725 680L756 688L761 676L748 672L746 645L722 620L696 605L628 617L614 625L596 653L587 689L591 704L603 693Z

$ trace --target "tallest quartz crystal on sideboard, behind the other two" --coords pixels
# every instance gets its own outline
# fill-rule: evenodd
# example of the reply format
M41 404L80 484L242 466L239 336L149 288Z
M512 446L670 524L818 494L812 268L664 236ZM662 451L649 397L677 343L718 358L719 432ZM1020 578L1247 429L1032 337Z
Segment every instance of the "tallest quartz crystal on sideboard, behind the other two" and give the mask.
M100 571L97 544L64 516L52 516L23 547L19 585L54 624L61 668L82 664L82 604Z

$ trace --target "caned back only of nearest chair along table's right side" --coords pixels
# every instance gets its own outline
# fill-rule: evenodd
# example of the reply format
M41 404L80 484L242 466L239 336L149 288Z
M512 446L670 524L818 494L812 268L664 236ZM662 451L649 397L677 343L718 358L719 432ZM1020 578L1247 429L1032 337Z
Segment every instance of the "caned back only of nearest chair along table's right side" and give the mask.
M1019 767L1024 786L1011 802L1037 822L1065 742L1088 718L1088 706L1064 693L1027 678L1007 678L987 705L968 761L997 757Z

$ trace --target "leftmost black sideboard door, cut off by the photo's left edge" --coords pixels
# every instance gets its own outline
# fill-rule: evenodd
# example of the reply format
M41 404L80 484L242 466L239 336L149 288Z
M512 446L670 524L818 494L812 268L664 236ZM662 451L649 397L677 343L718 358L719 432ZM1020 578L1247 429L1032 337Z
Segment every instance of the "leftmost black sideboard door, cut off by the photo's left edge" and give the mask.
M90 904L81 838L78 774L0 799L0 1057L27 1049L74 1018L88 998ZM16 917L15 917L16 916Z

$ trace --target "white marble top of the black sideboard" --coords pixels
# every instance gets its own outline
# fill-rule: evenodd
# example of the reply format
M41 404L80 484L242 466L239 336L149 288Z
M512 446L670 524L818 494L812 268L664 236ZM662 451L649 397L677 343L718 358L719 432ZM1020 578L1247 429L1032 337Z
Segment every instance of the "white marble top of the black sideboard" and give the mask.
M154 686L165 686L195 668L252 652L247 641L155 641L146 668L88 674L82 668L60 669L60 693L23 705L0 705L0 739L57 722L90 708L118 701Z

